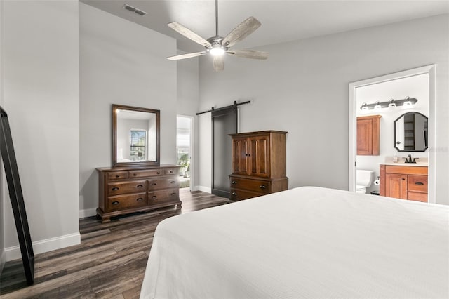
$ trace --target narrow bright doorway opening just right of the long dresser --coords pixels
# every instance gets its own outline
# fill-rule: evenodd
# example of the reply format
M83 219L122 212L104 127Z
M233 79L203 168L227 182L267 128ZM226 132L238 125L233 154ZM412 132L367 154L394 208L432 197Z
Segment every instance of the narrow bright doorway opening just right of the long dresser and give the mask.
M180 166L180 188L192 190L193 117L176 117L177 166Z

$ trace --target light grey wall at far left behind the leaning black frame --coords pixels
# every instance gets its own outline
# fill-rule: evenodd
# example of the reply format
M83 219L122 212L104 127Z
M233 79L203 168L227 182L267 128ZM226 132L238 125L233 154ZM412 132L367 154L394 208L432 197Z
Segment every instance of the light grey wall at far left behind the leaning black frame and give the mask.
M34 253L79 244L78 1L2 1L3 104ZM20 258L4 192L6 259Z

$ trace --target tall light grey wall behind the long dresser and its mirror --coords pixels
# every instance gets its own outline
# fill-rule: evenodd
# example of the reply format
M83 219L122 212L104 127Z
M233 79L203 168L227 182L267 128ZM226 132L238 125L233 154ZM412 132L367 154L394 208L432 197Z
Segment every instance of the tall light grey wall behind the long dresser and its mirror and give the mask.
M80 217L98 207L97 167L112 166L112 104L161 110L161 164L176 164L176 41L79 3Z

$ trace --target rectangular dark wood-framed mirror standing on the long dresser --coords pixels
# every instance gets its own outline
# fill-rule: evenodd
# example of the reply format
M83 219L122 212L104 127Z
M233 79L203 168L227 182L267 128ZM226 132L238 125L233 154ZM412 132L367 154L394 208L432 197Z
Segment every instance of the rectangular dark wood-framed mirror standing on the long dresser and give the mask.
M159 110L112 105L112 165L159 165Z

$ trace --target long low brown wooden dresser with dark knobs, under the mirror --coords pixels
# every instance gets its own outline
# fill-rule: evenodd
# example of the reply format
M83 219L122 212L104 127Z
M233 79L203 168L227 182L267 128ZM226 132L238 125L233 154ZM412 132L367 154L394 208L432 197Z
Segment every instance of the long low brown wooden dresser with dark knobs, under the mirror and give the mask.
M127 213L173 205L181 207L178 166L105 167L97 168L97 171L97 214L102 222Z

